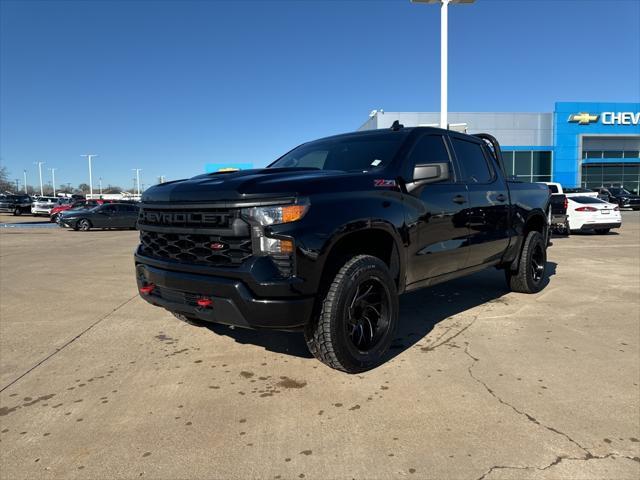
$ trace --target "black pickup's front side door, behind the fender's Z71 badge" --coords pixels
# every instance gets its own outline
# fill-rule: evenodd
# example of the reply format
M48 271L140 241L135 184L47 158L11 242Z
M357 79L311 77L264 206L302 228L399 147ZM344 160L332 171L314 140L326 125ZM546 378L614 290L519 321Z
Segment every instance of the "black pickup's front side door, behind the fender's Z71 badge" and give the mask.
M466 207L469 197L457 178L443 135L425 133L411 148L404 177L413 179L416 165L448 163L451 177L422 185L409 193L407 211L413 218L415 238L409 247L407 284L454 272L464 267L469 230Z

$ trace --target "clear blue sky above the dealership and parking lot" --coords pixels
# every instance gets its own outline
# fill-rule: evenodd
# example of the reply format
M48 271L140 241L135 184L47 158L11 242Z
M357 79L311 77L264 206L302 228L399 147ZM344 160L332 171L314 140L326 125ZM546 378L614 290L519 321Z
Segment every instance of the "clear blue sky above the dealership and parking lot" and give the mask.
M450 111L640 101L640 0L449 10ZM0 164L130 188L264 166L373 109L438 111L439 8L388 1L0 0Z

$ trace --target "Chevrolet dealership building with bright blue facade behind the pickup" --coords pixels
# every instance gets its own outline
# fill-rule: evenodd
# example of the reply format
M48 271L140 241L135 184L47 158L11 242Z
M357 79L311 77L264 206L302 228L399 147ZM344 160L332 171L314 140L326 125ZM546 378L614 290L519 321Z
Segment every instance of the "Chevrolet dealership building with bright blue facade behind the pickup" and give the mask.
M373 111L360 130L437 126L439 112ZM640 103L557 102L553 112L450 112L452 128L489 133L505 167L533 182L640 191Z

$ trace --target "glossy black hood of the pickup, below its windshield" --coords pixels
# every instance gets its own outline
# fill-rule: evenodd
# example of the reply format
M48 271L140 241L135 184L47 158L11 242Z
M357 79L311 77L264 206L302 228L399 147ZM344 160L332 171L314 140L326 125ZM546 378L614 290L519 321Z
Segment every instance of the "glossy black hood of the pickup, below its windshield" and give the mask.
M144 191L142 201L211 202L304 196L357 190L365 184L370 184L369 178L368 173L314 168L262 168L218 172L155 185Z

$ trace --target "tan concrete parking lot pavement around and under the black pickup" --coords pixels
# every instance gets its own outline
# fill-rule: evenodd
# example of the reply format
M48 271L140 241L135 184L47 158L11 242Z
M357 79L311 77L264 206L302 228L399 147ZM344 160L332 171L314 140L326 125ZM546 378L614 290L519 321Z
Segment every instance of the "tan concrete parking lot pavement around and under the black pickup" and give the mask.
M297 334L139 299L136 232L0 232L2 478L640 477L640 215L555 239L549 285L405 295L349 376ZM4 219L0 219L3 221Z

